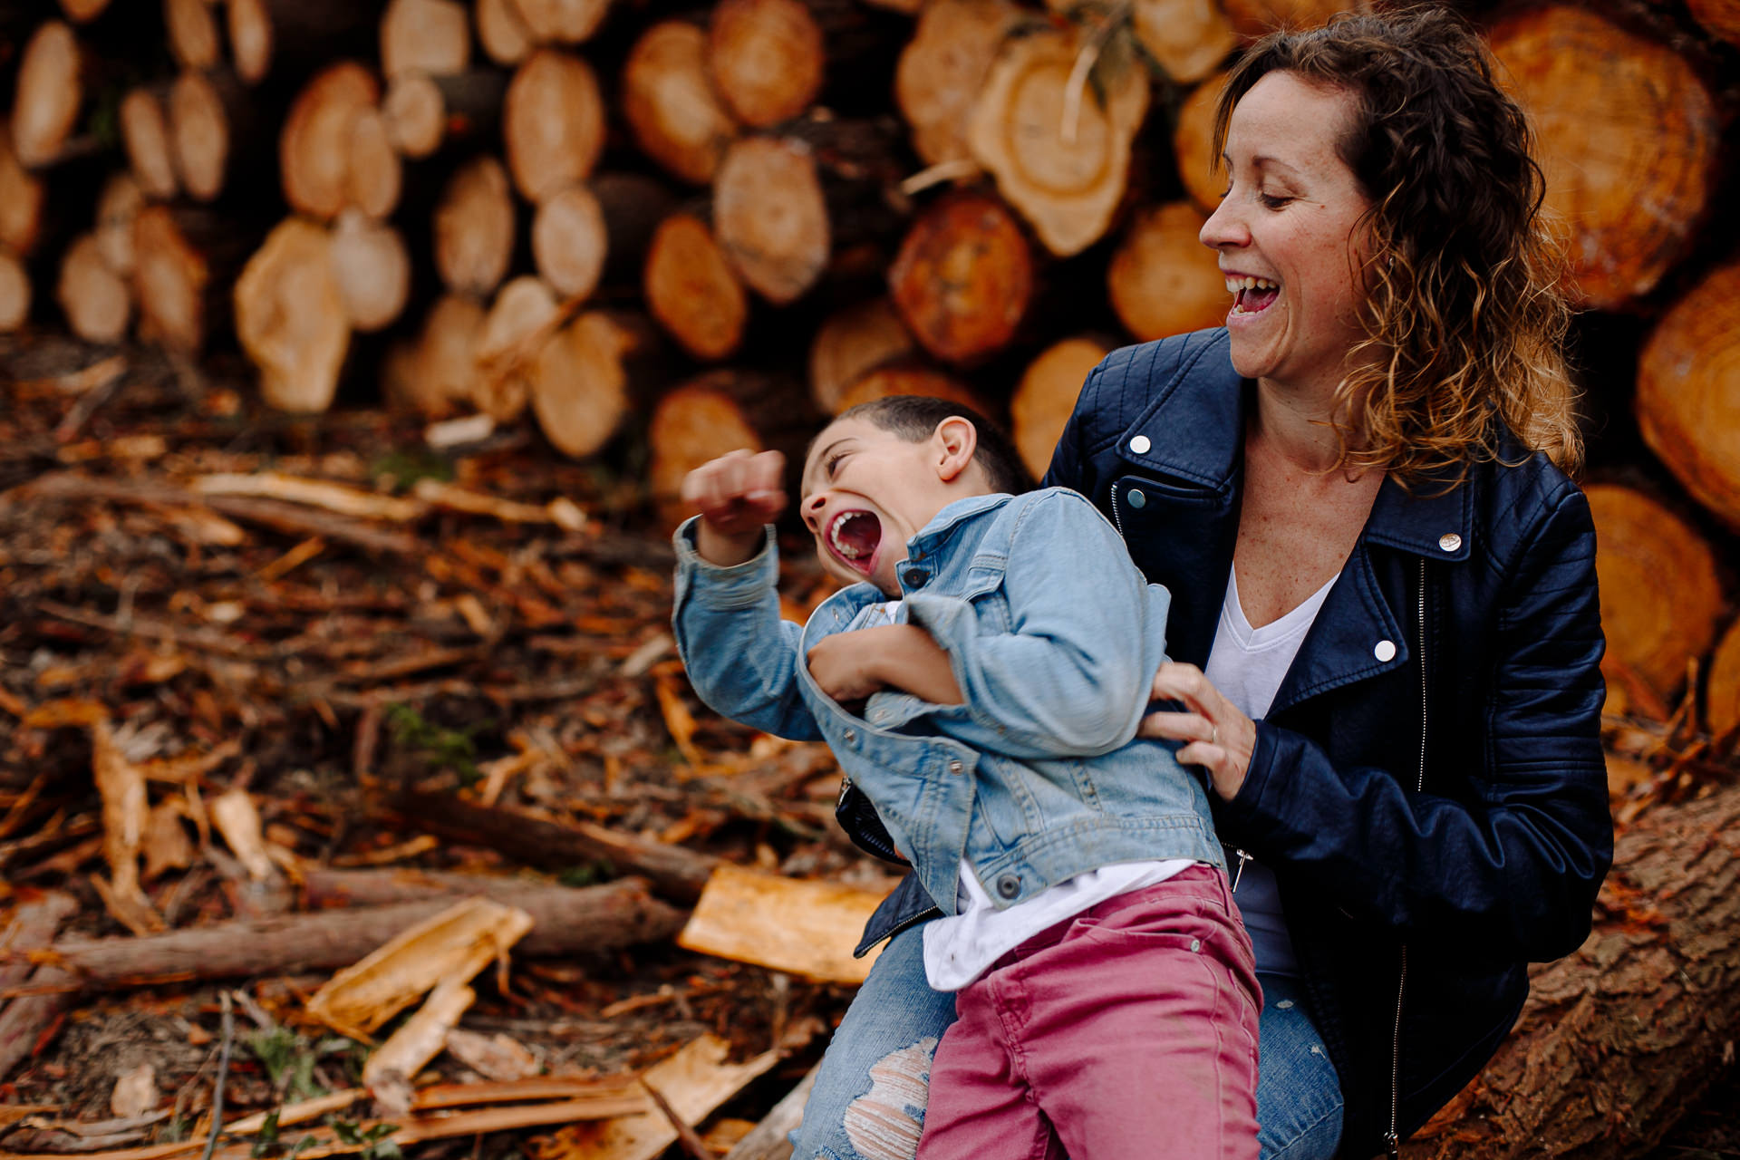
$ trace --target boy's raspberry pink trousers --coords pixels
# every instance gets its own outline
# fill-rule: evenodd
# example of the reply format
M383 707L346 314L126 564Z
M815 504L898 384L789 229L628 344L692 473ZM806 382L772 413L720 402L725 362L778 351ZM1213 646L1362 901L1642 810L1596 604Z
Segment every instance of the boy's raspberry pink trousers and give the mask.
M917 1160L1256 1160L1262 1005L1220 870L1100 903L955 997Z

